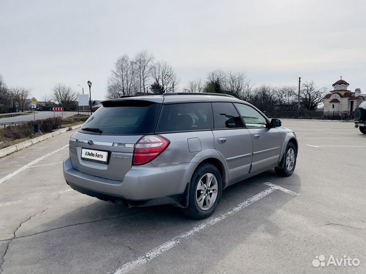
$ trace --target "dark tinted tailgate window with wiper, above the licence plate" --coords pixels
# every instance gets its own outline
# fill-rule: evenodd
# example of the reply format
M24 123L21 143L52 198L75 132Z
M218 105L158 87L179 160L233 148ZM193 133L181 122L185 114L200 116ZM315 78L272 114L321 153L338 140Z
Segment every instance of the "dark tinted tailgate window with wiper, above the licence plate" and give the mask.
M154 133L160 106L143 100L106 101L81 130L107 135L151 134Z

